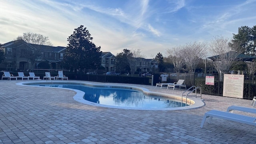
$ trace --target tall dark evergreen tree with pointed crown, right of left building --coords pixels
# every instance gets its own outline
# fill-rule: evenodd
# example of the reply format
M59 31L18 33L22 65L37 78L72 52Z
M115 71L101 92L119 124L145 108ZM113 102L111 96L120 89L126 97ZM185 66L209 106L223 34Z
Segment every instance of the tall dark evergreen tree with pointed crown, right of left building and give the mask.
M100 46L96 47L92 43L92 37L84 26L75 29L73 34L68 37L68 46L63 63L66 68L78 70L96 69L100 67Z

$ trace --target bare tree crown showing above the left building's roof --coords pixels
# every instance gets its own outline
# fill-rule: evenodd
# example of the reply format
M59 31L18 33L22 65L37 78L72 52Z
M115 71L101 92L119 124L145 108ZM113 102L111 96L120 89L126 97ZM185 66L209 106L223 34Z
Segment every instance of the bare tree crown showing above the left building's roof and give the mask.
M23 33L22 36L18 36L17 38L14 38L14 40L24 40L29 44L52 46L48 36L43 36L42 34L35 34L32 32Z

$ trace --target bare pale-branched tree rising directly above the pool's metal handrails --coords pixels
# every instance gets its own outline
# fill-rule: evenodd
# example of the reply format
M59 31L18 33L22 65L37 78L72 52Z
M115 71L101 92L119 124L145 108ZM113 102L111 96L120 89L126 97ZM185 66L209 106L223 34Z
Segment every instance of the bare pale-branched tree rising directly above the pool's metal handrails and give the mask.
M196 67L198 66L202 58L205 58L207 54L206 43L187 43L182 46L182 48L184 52L184 62L186 64L186 68L190 72L195 72Z

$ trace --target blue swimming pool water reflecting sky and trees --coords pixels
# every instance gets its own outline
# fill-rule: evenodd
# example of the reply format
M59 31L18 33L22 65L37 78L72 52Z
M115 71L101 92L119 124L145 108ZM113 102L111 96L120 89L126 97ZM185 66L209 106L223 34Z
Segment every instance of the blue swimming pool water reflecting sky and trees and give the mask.
M33 84L34 86L72 88L85 92L84 99L109 106L130 108L175 108L181 102L161 96L148 96L140 91L128 88L90 87L79 84ZM186 104L182 104L186 106Z

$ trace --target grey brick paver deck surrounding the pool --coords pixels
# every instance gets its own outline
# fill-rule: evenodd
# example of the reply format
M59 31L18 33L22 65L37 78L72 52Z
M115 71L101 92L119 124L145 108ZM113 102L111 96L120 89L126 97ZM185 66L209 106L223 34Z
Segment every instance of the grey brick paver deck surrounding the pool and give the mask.
M71 81L71 80L70 80ZM204 95L205 105L189 110L125 110L82 104L71 90L18 86L0 81L0 143L3 144L255 144L255 126L213 118L200 128L204 113L251 100ZM24 80L25 82L25 80ZM96 83L96 82L94 82ZM106 83L97 83L106 84ZM120 85L120 84L118 84ZM155 86L151 91L180 94ZM244 112L234 113L256 116Z

